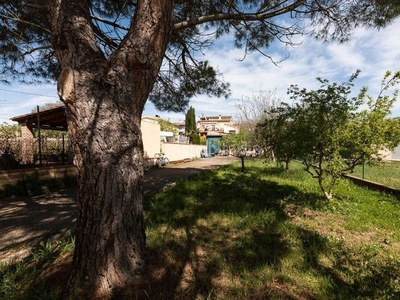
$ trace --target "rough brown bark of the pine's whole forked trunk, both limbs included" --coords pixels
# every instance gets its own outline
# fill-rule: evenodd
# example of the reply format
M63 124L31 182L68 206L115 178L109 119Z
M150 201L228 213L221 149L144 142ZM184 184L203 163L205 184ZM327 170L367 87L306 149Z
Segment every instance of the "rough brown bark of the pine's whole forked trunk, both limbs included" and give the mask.
M48 0L78 169L78 222L67 294L107 298L135 282L145 248L141 115L159 72L173 1L140 1L119 48L105 57L88 1ZM75 296L72 296L75 295Z

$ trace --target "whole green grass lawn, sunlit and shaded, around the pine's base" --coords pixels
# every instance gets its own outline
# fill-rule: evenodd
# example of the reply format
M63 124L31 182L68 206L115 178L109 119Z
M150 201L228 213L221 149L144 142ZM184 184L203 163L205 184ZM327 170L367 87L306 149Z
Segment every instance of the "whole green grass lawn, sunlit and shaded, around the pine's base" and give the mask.
M125 299L400 298L399 199L342 180L328 202L299 164L245 165L146 199L147 271ZM59 299L68 245L1 267L0 298Z

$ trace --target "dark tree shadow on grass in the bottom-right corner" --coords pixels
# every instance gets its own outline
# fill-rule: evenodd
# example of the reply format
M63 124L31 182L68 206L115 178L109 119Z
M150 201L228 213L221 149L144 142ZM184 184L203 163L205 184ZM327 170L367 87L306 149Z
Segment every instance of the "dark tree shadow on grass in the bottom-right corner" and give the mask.
M315 231L298 228L298 232L307 271L329 279L325 289L327 295L334 295L333 299L400 299L398 261L383 262L367 252L333 247L328 237ZM333 256L334 263L327 264L326 256Z

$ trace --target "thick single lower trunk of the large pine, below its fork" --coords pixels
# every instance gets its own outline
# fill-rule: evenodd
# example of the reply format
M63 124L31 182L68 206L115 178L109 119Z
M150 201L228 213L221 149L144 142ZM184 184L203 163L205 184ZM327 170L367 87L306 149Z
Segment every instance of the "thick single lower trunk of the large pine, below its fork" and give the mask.
M133 283L143 268L142 107L122 87L85 86L82 92L75 90L80 95L75 103L67 102L78 168L69 290L103 298Z

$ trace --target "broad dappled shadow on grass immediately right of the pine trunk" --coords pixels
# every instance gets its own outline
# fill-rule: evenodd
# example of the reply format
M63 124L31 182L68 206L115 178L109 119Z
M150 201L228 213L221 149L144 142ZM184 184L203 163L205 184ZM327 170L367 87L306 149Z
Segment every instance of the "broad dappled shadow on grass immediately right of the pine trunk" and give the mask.
M265 265L280 269L290 250L280 227L288 220L285 201L294 193L299 191L256 174L219 172L203 173L149 199L147 222L164 228L164 235L149 246L148 269L136 296L218 298L226 285L225 296L243 297L235 282L224 282L224 274L239 278ZM258 216L264 220L254 220ZM292 298L273 289L253 292Z

